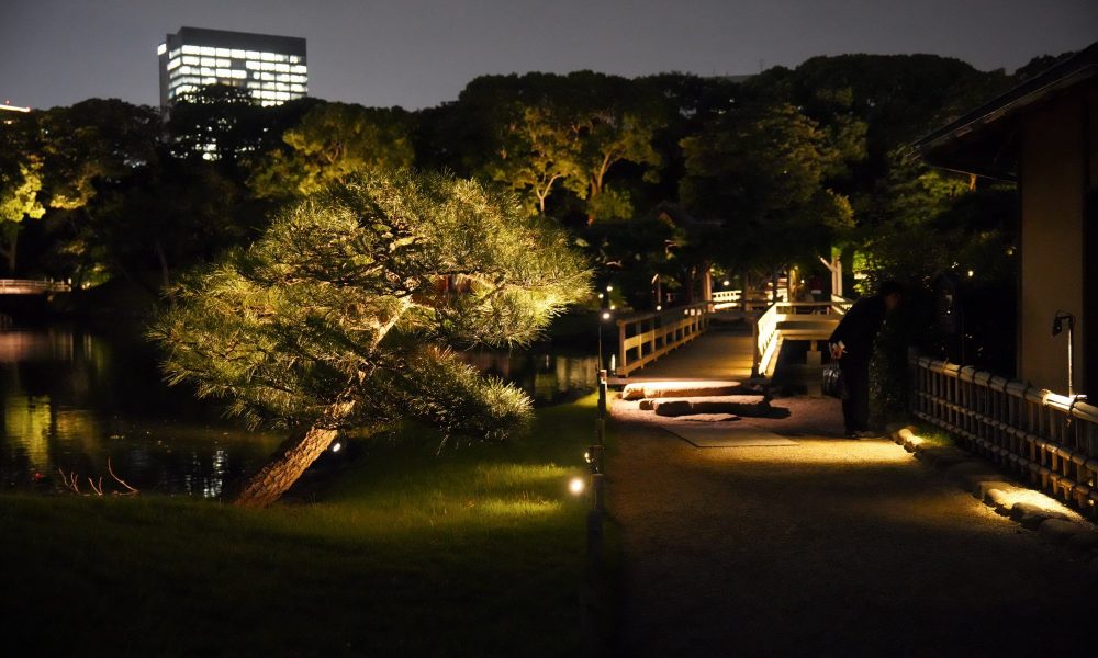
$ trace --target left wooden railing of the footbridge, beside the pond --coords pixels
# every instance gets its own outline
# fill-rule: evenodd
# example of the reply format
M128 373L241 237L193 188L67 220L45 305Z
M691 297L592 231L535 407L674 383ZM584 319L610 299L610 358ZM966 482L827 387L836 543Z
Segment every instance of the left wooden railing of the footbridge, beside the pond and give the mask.
M615 372L628 376L632 371L694 340L709 327L712 309L713 304L702 302L619 319Z

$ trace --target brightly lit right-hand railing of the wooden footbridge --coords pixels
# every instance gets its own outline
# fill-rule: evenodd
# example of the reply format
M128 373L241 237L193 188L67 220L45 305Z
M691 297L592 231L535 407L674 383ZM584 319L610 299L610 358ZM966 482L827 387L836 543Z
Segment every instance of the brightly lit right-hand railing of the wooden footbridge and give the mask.
M786 338L827 340L853 303L832 296L830 302L780 302L754 322L755 376L769 377L777 365L777 352Z

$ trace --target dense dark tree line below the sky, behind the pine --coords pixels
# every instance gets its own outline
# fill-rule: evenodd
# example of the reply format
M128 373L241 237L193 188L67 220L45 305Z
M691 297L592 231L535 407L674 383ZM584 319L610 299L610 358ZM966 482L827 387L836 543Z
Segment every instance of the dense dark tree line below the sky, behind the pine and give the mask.
M1024 76L929 55L817 57L746 81L484 76L418 112L209 88L167 116L90 99L0 124L8 272L149 290L250 243L277 208L370 171L449 170L514 190L648 307L714 266L931 286L1012 283L1012 194L922 166L909 144ZM670 211L670 212L663 212ZM998 294L998 293L997 293Z

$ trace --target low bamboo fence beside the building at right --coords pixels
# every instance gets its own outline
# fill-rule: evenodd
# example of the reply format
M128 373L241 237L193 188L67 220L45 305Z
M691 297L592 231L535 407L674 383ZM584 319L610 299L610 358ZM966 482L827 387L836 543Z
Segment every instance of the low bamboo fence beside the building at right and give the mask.
M919 356L910 364L917 417L1098 515L1098 407L972 366Z

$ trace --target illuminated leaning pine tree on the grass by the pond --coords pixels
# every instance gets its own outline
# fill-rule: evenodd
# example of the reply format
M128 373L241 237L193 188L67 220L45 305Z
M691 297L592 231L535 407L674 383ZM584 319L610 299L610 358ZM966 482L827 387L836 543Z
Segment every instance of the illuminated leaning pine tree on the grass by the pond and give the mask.
M168 381L291 430L236 502L277 500L343 429L413 418L501 440L528 419L522 390L448 349L526 344L587 293L567 237L520 207L445 174L357 179L175 288L150 329Z

